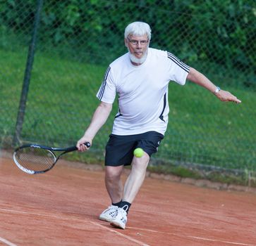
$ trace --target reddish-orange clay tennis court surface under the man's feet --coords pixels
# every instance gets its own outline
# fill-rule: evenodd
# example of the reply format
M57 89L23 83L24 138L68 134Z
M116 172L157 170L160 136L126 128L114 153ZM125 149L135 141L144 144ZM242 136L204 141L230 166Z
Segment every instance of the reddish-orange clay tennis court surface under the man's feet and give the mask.
M147 178L126 230L98 216L110 201L104 172L60 160L46 174L0 157L0 245L256 245L254 193Z

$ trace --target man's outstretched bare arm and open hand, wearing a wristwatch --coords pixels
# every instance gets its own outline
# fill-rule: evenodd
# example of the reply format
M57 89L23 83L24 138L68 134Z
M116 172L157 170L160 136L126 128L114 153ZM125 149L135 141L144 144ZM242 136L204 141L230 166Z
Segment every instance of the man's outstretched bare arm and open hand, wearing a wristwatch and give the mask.
M195 84L198 84L202 87L205 87L205 89L211 91L214 93L217 86L215 86L205 75L202 75L202 73L195 70L193 67L190 67L190 72L188 73L188 80L191 82L194 82ZM229 91L223 91L220 90L218 93L214 93L220 101L231 101L234 103L241 103L241 101L236 98L236 96L233 96Z

